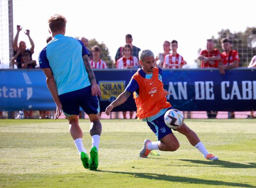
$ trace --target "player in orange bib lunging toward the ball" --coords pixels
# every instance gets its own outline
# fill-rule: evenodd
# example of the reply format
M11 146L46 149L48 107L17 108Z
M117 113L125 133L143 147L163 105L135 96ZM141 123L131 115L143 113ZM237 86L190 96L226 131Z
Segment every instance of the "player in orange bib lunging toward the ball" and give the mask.
M150 50L140 51L139 62L142 68L133 75L125 91L106 108L106 114L109 115L113 108L123 104L133 93L137 106L137 117L147 122L158 139L158 142L151 142L149 139L144 141L140 157L146 158L151 150L175 151L180 144L171 128L164 123L164 113L173 107L166 99L166 95L169 93L163 88L162 70L154 67L153 52ZM185 135L190 144L197 148L206 159L218 160L217 156L208 153L196 133L185 123L176 131Z

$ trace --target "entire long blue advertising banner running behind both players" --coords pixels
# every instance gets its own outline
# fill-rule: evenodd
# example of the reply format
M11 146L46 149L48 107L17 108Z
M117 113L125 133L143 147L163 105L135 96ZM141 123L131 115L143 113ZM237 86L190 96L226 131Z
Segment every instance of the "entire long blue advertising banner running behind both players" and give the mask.
M94 70L100 85L100 109L121 94L135 69ZM251 111L256 110L256 69L236 68L221 75L218 69L164 69L164 89L168 101L182 111ZM22 109L53 110L55 103L40 69L0 71L0 111ZM132 95L114 111L135 111Z

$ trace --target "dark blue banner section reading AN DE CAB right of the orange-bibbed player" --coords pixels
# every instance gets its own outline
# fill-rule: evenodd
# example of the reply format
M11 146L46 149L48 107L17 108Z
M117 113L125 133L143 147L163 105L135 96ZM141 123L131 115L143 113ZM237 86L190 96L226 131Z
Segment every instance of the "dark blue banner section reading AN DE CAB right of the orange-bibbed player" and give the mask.
M256 70L166 70L168 101L182 111L251 111L256 109Z

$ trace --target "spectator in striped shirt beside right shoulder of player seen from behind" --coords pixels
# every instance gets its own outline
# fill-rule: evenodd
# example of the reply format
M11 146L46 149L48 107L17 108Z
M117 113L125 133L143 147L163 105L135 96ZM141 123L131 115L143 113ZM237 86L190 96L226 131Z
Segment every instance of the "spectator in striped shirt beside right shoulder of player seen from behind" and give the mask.
M90 60L90 64L92 68L100 68L100 69L107 68L107 63L100 59L100 52L101 50L99 46L95 45L92 47L93 59Z

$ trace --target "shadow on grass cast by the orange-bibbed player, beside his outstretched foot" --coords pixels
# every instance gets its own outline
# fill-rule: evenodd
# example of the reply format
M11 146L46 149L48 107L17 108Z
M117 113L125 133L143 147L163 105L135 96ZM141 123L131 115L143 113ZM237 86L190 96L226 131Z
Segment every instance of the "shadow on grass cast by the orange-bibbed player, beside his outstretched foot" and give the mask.
M225 168L256 168L256 164L251 162L249 164L241 164L236 162L229 162L229 161L200 161L200 160L190 160L190 159L179 159L180 161L187 161L197 164L207 164L209 166L220 166Z

